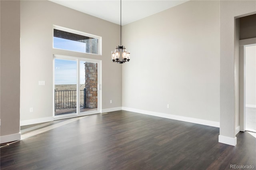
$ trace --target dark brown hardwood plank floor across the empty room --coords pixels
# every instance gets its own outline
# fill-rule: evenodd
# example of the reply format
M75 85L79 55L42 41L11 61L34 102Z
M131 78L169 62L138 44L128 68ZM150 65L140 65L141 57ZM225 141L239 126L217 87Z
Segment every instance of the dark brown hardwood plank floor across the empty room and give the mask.
M218 142L219 128L128 111L76 119L22 127L22 136L46 131L2 147L1 170L256 169L256 138L248 132L230 146Z

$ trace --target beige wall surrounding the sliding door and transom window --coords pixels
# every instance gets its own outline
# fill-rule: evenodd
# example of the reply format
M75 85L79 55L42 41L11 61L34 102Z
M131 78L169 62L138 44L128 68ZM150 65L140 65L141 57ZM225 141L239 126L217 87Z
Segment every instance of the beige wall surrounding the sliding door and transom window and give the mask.
M20 3L20 121L53 119L54 54L102 60L102 109L121 108L122 66L112 63L110 56L120 41L116 36L120 26L48 0ZM102 55L53 49L53 25L101 36ZM45 85L38 85L38 81L45 81Z

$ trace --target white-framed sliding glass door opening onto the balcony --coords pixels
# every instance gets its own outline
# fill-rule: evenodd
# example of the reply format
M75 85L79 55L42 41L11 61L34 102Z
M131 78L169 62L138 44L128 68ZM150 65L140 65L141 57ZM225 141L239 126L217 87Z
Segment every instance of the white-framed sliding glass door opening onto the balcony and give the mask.
M100 113L101 61L54 55L54 118Z

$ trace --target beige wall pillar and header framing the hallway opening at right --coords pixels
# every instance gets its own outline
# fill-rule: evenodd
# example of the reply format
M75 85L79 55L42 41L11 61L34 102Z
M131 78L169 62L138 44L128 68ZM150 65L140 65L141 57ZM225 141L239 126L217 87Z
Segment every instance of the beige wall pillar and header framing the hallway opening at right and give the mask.
M235 18L256 12L256 1L220 1L220 136L236 144ZM237 46L236 46L237 48ZM220 140L220 137L219 137ZM227 144L229 144L227 142Z

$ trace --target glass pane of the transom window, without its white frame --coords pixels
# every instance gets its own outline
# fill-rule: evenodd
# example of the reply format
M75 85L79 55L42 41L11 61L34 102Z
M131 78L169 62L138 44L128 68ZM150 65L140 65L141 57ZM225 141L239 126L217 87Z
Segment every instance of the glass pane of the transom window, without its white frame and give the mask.
M98 43L99 40L97 38L54 29L54 48L98 54Z

